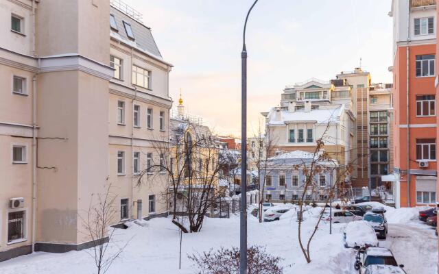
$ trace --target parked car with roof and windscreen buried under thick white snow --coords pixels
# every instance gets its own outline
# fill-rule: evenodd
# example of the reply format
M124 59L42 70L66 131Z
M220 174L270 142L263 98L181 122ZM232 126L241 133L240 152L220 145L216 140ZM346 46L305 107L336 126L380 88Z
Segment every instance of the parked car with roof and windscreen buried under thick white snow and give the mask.
M365 221L353 221L344 229L344 247L378 247L375 230Z

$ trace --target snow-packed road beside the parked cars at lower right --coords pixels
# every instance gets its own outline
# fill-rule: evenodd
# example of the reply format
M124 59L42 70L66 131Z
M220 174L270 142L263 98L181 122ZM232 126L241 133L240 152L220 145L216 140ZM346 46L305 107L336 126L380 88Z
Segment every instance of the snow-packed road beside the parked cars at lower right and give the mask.
M434 274L438 264L438 237L424 223L389 224L387 240L380 247L392 250L407 274Z

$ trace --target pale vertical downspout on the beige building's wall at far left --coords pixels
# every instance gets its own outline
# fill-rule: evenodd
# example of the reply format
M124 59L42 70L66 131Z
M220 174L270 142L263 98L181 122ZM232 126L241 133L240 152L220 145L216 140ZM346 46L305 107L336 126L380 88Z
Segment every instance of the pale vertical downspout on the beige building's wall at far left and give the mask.
M36 56L36 2L32 0L32 18L34 21L33 27L33 53ZM32 77L32 252L35 251L35 242L36 242L36 76L40 71L40 58L38 58L38 72L34 74Z

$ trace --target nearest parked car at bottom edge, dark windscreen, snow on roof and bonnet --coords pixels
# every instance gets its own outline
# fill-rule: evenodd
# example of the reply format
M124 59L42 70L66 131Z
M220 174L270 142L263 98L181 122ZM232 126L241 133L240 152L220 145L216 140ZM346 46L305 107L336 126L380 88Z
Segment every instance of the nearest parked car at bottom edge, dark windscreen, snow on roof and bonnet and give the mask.
M367 247L359 249L355 257L355 270L360 274L366 274L368 266L371 265L390 265L403 268L404 265L398 265L390 249L384 247ZM369 267L370 269L371 267ZM392 272L390 272L392 273Z

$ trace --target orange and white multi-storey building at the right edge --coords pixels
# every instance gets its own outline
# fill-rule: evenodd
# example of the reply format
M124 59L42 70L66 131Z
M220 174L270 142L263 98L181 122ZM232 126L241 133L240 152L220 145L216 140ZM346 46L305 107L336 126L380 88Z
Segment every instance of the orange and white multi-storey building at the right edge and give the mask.
M436 203L436 1L392 1L396 206Z

